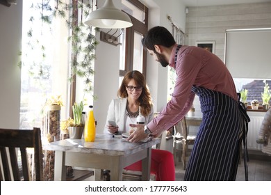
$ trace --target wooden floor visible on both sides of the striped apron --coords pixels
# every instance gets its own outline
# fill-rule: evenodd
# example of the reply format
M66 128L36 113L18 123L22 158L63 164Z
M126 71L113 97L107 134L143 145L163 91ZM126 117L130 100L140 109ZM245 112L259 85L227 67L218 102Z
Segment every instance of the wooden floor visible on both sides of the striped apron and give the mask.
M263 159L249 157L248 179L249 181L271 181L271 157ZM176 181L183 181L184 173L181 162L176 164ZM236 181L245 181L245 168L243 161L238 166Z

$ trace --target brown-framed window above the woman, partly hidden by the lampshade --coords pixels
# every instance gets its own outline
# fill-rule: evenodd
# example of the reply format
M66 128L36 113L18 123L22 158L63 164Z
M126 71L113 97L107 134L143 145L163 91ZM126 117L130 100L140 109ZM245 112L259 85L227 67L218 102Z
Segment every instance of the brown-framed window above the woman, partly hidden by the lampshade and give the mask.
M148 8L138 0L122 0L122 10L131 17L133 26L124 30L121 36L120 81L126 72L138 70L146 76L146 55L141 39L147 33ZM125 52L124 52L125 51Z

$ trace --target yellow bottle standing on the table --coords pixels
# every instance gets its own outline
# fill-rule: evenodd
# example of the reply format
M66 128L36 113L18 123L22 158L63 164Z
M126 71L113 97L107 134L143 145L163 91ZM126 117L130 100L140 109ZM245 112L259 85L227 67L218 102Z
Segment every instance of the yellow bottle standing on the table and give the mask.
M93 107L90 106L90 111L88 111L87 121L85 122L84 137L85 141L93 142L95 141L96 127L95 118L93 113Z

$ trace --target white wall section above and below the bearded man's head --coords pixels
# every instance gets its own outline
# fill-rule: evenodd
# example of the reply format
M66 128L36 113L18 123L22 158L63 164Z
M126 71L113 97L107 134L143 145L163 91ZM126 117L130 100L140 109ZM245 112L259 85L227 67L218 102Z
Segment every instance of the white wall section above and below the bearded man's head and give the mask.
M171 31L171 23L167 15L184 31L186 29L186 14L183 3L178 0L169 1L147 1L149 7L149 29L154 26L165 26ZM167 8L167 9L165 9ZM158 17L159 16L159 17ZM154 61L153 57L147 55L147 83L154 99L154 111L161 111L167 103L167 68Z

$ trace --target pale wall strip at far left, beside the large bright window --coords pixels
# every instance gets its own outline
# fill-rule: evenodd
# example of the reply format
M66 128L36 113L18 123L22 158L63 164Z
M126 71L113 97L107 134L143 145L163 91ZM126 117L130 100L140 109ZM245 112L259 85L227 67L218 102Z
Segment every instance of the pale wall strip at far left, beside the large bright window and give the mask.
M19 128L22 1L0 5L0 128Z

